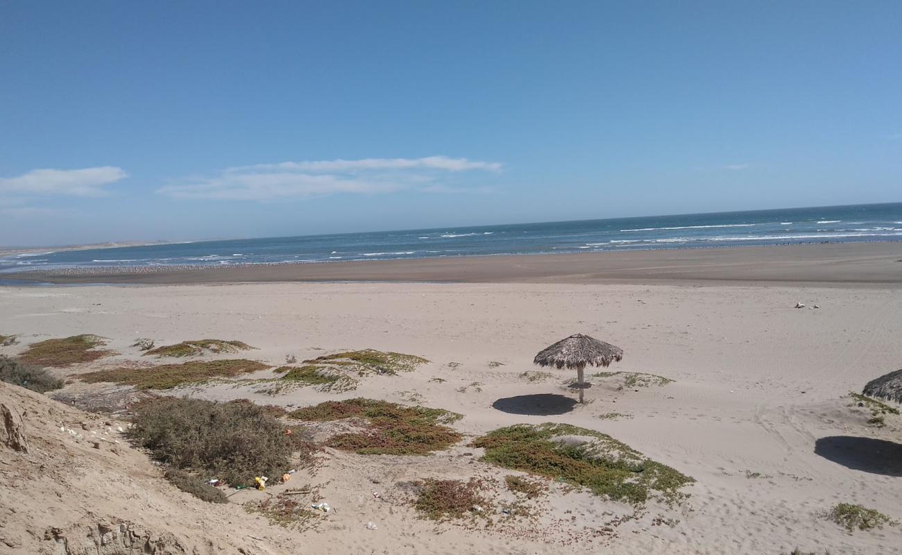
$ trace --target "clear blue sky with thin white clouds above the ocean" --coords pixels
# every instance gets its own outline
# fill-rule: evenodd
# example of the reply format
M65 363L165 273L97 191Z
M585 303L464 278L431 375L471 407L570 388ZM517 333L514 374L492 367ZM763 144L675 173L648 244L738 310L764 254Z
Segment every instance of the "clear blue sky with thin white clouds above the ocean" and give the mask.
M899 2L0 3L0 245L902 200Z

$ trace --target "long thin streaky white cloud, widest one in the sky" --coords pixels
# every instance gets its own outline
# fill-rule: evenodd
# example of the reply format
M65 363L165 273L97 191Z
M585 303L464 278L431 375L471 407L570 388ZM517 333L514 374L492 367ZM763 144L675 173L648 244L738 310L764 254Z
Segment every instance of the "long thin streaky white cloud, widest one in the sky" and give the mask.
M332 194L456 189L437 182L462 171L500 171L497 162L465 158L366 158L281 162L226 168L212 177L177 180L157 190L174 199L275 200Z

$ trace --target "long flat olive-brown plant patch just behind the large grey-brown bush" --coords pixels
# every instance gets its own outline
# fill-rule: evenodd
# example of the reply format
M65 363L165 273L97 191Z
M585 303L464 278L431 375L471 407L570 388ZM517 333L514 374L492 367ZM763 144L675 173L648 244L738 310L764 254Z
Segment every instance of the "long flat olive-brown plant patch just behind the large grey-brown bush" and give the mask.
M269 366L244 358L191 361L180 365L158 365L149 368L114 368L88 372L78 377L88 384L113 382L134 385L138 389L171 389L184 384L198 384L210 378L235 377L257 372Z

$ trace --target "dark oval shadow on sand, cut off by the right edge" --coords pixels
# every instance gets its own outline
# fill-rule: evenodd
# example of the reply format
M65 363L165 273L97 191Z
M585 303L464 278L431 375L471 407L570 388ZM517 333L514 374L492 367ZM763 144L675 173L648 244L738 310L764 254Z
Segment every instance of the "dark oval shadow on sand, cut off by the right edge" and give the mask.
M830 436L815 441L815 454L853 470L902 476L902 443L886 439Z

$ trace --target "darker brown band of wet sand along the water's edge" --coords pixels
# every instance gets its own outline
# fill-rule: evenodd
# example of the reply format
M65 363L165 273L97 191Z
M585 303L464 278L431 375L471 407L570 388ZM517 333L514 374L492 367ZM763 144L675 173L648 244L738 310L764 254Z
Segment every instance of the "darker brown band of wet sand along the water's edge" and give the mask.
M677 283L902 286L902 242L502 254L325 264L122 266L7 273L52 284L228 282Z

